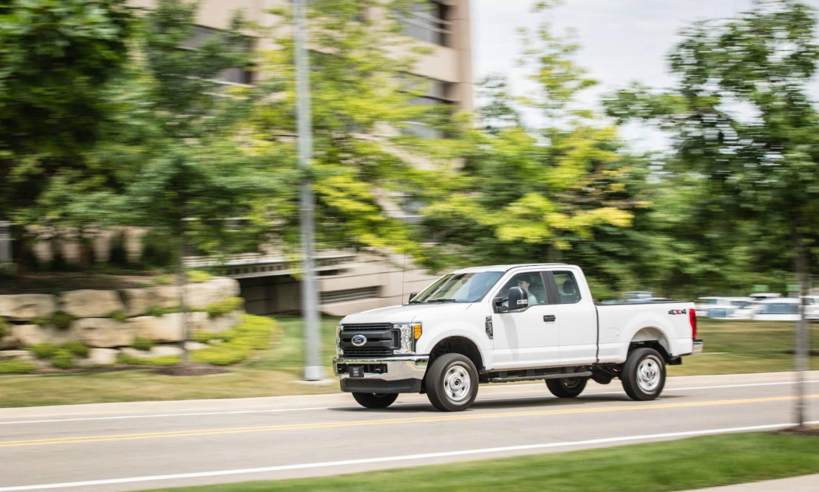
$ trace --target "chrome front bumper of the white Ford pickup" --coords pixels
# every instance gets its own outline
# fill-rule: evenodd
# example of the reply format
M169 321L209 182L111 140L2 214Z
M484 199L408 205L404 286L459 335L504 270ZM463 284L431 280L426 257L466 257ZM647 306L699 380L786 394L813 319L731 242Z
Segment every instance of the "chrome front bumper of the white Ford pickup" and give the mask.
M428 362L429 356L333 357L333 373L340 380L342 391L412 393L421 391ZM364 377L351 378L347 369L351 365L364 366Z

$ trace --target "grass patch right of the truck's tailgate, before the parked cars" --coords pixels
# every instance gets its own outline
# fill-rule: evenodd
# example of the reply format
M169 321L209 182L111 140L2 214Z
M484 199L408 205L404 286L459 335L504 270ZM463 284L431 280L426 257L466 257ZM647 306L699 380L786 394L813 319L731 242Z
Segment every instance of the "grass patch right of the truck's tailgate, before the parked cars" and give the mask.
M766 373L794 370L794 323L785 321L698 320L704 352L668 366L669 376ZM819 350L819 323L810 324L811 347ZM723 353L720 353L723 352ZM811 357L819 369L819 357Z

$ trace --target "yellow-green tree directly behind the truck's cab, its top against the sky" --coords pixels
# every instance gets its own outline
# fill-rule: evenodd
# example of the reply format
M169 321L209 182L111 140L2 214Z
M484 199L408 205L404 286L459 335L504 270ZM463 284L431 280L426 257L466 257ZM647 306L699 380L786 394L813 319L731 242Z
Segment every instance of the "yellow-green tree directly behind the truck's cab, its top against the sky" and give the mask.
M644 161L627 153L616 127L578 108L577 93L595 82L572 61L576 50L548 25L527 38L524 60L539 88L523 100L539 114L532 127L519 123L521 98L490 79L487 131L469 133L463 170L424 211L430 233L446 234L437 250L450 261L563 261L597 231L630 226L646 205ZM598 258L586 266L604 279L613 265Z

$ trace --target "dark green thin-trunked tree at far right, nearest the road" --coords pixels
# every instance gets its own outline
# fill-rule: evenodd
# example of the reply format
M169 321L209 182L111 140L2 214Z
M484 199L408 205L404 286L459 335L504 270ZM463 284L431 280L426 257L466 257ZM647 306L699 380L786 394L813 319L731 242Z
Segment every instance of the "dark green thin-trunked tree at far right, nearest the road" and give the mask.
M819 59L815 28L801 2L757 2L686 29L670 56L673 90L631 87L608 101L619 119L672 132L674 162L702 177L727 224L752 224L763 244L790 236L786 256L803 295L819 231L819 114L806 92ZM807 347L803 323L799 338Z

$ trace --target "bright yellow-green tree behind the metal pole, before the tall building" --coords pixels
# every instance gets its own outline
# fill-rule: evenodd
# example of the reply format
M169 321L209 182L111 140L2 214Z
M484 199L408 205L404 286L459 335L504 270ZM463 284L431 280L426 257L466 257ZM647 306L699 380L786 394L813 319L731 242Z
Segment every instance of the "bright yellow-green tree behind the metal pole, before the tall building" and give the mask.
M401 34L393 15L414 2L328 0L309 2L310 100L314 159L296 171L294 46L289 9L277 11L283 25L273 30L278 47L265 53L260 72L271 94L256 105L256 150L287 150L280 164L282 193L259 204L271 217L278 246L299 244L298 183L314 183L317 248L369 248L421 255L416 237L398 214L423 194L432 169L449 168L456 131L449 105L417 104L429 81L409 75L419 50ZM432 130L432 138L414 135ZM434 133L437 132L437 135Z

